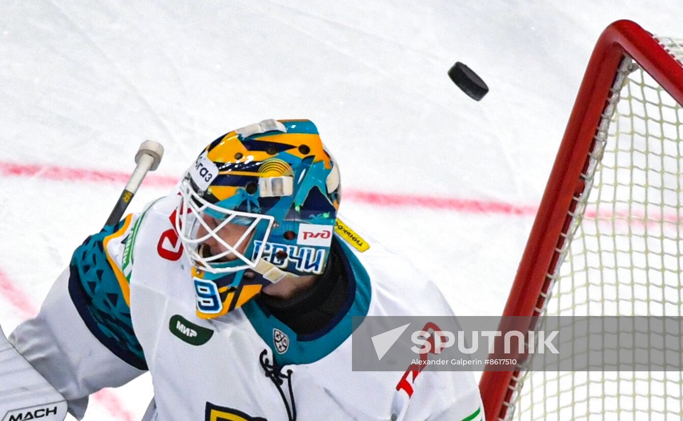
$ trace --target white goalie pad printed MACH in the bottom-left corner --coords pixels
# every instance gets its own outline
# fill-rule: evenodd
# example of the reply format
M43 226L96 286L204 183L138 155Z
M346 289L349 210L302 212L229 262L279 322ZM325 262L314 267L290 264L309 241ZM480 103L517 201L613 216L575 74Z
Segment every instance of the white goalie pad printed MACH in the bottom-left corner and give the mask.
M12 347L0 327L0 421L64 418L64 397Z

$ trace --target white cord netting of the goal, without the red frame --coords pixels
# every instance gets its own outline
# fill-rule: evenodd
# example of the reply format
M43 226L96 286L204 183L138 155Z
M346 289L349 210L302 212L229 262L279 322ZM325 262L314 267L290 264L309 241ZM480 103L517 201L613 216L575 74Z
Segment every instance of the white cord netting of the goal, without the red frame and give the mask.
M683 62L682 41L658 40ZM624 57L595 140L544 312L683 316L683 109ZM683 375L522 372L511 406L514 420L681 420Z

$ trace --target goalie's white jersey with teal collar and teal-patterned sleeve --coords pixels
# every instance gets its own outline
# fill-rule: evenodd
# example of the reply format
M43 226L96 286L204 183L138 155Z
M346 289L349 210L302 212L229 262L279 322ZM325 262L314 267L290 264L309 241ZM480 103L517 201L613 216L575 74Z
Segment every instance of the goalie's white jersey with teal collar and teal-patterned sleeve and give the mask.
M340 225L350 297L329 327L299 336L255 300L204 320L170 219L177 203L169 195L90 237L10 336L76 418L89 394L149 370L145 420L484 419L471 372L351 370L352 316L452 315L404 259L365 250Z

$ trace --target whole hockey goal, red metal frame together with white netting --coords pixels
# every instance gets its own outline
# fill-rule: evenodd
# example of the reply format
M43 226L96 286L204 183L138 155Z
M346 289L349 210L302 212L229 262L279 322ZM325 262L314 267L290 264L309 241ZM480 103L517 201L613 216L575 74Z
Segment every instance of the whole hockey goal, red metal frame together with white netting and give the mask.
M682 316L683 40L591 56L504 315ZM678 355L681 349L679 332ZM681 372L484 372L488 421L680 420Z

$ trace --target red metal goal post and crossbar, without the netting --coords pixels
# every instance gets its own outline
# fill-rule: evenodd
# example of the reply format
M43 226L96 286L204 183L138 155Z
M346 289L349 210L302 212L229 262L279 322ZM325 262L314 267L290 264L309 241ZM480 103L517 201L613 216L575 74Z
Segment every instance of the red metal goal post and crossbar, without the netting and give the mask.
M683 65L657 38L631 21L602 32L589 60L507 299L504 316L541 316L561 250L583 193L598 128L605 118L624 57L631 57L663 90L683 104ZM683 128L682 128L683 130ZM561 262L560 262L561 263ZM560 281L561 282L561 281ZM479 383L486 420L505 420L520 372L485 371Z

